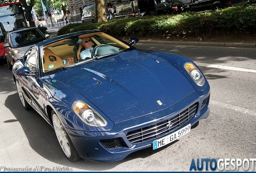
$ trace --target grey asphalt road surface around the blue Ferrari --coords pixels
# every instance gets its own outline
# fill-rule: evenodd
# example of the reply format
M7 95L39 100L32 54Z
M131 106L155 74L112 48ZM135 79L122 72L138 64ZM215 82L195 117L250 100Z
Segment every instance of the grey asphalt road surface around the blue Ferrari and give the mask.
M50 125L35 111L23 109L11 71L1 64L0 171L189 171L193 158L256 157L255 48L152 44L136 47L180 54L200 65L211 86L209 118L172 145L154 151L138 151L117 163L71 163L64 157Z

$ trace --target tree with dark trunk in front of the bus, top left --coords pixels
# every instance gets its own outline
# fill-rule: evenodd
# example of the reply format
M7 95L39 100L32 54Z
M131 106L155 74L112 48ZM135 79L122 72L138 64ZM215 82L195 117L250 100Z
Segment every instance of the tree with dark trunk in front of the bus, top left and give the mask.
M17 2L16 0L0 0L0 4L4 4L4 3L10 3L10 2ZM21 5L25 8L26 10L26 13L29 15L29 18L30 20L28 21L29 22L29 25L30 26L35 26L35 22L33 21L33 18L32 18L32 7L34 6L34 2L35 0L19 0L19 2L21 2Z

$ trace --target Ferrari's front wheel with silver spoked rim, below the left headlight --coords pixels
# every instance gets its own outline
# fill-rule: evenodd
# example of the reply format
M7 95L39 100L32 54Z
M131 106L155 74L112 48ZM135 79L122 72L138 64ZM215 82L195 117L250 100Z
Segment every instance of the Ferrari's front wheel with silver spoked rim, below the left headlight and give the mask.
M70 140L70 137L68 136L68 133L62 126L60 119L54 111L52 111L52 124L54 126L56 137L60 143L60 147L66 158L72 162L79 160L80 156L78 155L72 141Z

